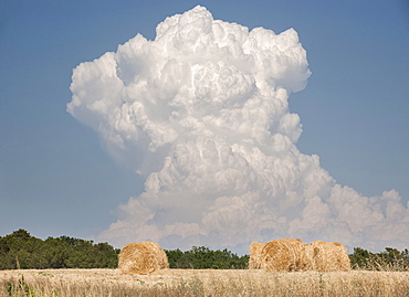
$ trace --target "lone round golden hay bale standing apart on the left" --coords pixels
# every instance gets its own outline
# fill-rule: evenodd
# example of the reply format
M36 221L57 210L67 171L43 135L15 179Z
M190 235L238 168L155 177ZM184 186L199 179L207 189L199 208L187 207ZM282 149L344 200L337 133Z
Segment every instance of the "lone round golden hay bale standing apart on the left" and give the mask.
M124 274L151 274L169 268L169 263L165 251L157 243L129 243L118 255L118 268Z

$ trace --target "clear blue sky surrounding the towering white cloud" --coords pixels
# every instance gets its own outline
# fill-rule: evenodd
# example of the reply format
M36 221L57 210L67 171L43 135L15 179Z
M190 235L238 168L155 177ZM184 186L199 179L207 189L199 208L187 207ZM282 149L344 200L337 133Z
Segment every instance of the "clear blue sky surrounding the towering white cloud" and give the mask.
M298 149L364 195L409 201L407 1L0 2L0 235L92 237L144 180L69 113L71 75L166 17L204 6L214 19L294 28L312 76L292 94Z

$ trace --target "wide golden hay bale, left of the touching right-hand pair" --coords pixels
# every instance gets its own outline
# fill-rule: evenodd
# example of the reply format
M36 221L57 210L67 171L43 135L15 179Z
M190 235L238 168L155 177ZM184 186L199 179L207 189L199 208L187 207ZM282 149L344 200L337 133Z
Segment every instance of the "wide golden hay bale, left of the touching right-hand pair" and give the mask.
M268 272L304 272L312 268L308 245L301 240L283 238L252 243L249 268Z

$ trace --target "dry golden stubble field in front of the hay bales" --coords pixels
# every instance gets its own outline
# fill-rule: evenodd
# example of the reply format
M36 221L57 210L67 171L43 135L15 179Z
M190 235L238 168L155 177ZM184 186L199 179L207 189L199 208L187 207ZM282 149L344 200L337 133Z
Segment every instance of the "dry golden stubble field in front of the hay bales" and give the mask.
M409 296L409 272L0 271L0 296Z

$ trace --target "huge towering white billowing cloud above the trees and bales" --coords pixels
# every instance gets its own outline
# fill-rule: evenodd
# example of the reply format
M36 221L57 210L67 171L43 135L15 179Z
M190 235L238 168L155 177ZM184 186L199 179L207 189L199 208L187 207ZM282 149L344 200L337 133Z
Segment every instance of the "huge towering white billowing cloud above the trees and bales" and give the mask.
M382 250L408 244L399 194L364 197L296 148L289 96L311 72L297 33L213 20L203 7L167 18L73 73L69 113L146 178L99 237L122 246L301 237Z

